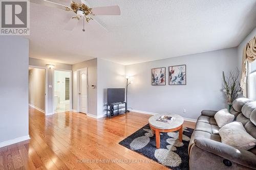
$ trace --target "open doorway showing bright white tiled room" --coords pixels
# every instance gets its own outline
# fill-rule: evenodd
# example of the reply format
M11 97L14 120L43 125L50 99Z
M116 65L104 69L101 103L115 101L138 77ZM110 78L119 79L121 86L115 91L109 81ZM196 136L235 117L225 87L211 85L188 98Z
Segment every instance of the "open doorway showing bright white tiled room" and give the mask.
M71 110L71 71L56 70L53 74L53 108L54 113L66 112Z

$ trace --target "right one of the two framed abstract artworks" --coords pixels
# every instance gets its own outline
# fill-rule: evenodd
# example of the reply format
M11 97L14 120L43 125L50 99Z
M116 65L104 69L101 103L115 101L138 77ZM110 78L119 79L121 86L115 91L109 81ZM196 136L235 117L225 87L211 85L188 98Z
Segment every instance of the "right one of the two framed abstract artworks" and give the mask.
M186 65L169 66L169 85L186 85Z

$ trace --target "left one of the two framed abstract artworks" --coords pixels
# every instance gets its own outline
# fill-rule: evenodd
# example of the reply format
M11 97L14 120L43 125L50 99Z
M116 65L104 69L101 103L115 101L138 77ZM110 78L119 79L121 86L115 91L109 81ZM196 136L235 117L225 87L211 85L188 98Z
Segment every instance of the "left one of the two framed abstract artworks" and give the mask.
M152 85L165 85L165 67L153 68L151 72Z

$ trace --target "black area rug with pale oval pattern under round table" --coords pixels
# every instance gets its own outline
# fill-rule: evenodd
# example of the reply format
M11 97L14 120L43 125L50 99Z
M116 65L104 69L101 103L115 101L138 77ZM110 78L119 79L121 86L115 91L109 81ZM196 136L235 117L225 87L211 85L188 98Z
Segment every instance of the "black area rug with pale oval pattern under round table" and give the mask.
M179 141L179 133L160 133L160 149L156 148L156 136L147 124L119 144L151 158L171 169L189 169L188 143L193 133L191 128L183 128L182 142Z

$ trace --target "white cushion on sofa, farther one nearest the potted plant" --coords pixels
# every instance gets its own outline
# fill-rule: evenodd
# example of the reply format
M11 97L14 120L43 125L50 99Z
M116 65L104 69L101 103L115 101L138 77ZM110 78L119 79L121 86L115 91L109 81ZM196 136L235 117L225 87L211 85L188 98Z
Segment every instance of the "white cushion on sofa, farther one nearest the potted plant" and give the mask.
M227 109L222 109L214 115L214 118L215 118L218 126L221 128L224 125L226 125L230 122L233 122L234 115L230 114Z

